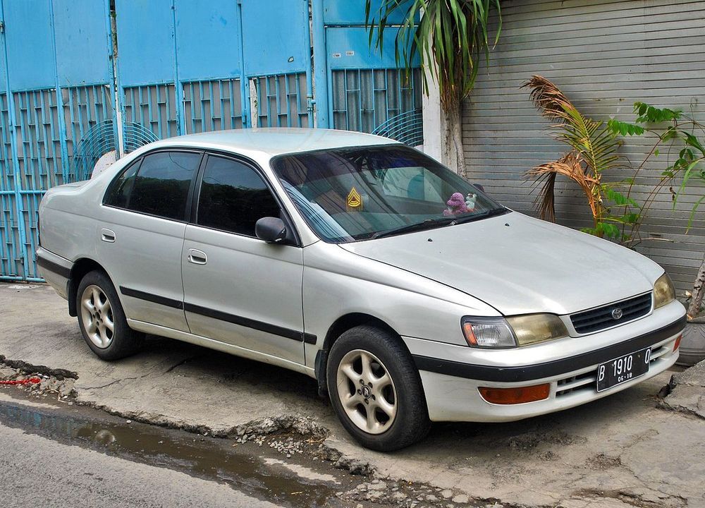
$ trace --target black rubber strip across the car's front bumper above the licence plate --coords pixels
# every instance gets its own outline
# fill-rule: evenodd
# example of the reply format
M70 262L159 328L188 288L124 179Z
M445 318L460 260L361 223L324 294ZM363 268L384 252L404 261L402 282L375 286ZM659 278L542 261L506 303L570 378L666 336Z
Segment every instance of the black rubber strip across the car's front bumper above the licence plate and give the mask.
M538 380L544 377L551 377L572 370L589 367L610 361L625 354L639 351L649 346L673 337L685 328L685 316L676 320L670 325L659 328L654 332L649 332L639 337L634 337L612 346L606 346L595 351L588 351L569 358L560 358L537 365L522 365L520 367L493 367L490 365L473 365L471 363L460 363L452 360L441 360L439 358L429 358L428 356L413 355L416 366L419 370L427 370L433 373L446 374L455 377L465 377L466 379L479 381L496 382L524 382Z

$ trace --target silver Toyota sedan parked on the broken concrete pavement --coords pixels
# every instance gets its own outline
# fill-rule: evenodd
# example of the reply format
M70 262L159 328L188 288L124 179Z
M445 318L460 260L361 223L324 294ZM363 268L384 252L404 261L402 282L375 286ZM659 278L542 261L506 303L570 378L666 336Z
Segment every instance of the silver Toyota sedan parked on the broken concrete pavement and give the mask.
M52 188L39 220L37 264L97 356L156 334L296 370L372 449L619 392L685 327L656 263L374 135L162 140Z

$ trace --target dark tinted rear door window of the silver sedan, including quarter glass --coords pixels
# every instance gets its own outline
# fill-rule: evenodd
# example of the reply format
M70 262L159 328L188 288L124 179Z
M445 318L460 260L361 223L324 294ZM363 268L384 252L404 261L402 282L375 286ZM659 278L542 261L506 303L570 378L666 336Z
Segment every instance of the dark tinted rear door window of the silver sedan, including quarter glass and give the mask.
M188 190L200 160L201 154L192 152L147 155L134 171L130 167L111 184L105 204L184 220Z

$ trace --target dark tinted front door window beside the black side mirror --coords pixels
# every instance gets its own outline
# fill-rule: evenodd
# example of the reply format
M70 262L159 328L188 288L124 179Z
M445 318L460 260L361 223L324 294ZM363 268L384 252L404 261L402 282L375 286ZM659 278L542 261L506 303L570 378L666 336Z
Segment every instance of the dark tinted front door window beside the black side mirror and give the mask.
M233 159L208 157L198 198L198 224L255 236L255 222L279 214L278 203L257 171Z

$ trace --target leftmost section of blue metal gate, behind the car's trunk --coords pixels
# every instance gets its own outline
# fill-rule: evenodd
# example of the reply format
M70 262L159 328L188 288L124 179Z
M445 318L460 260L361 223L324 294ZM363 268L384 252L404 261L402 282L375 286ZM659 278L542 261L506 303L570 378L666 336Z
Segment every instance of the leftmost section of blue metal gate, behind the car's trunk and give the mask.
M0 279L37 276L37 207L113 116L103 0L0 0ZM77 26L81 30L76 30Z

